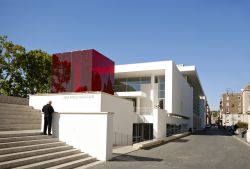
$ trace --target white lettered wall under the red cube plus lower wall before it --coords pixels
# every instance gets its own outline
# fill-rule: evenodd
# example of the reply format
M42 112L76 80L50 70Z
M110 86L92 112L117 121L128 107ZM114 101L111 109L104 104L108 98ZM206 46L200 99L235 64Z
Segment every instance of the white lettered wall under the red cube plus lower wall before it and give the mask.
M131 101L101 92L64 93L32 95L29 105L42 109L48 101L58 112L54 114L52 132L61 141L99 160L111 158L116 133L122 137L115 144L132 144L135 114Z

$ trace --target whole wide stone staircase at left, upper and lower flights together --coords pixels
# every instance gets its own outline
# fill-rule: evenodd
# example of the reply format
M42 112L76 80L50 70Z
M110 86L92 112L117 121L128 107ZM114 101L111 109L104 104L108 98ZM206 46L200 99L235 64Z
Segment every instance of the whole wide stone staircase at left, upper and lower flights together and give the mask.
M88 168L99 163L52 136L41 135L41 113L0 103L0 168Z

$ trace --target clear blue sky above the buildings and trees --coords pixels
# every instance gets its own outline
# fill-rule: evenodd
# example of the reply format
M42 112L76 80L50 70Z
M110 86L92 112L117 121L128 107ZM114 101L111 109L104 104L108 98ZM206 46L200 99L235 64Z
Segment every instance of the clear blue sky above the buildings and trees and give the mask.
M0 35L50 54L195 65L212 110L250 82L249 0L0 0Z

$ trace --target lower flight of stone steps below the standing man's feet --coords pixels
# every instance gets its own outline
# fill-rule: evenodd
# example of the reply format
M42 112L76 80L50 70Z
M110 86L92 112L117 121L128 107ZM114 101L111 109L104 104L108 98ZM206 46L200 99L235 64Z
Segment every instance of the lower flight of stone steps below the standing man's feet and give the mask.
M0 168L86 168L97 160L38 130L0 131Z

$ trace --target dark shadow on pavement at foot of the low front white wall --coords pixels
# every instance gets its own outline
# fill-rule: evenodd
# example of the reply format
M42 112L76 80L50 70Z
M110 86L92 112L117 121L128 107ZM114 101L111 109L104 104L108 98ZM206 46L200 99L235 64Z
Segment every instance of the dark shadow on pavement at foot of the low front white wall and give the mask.
M110 161L162 161L162 159L132 156L132 155L121 155L121 156L114 157Z

